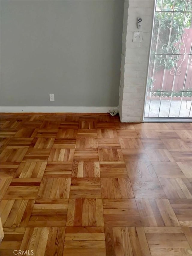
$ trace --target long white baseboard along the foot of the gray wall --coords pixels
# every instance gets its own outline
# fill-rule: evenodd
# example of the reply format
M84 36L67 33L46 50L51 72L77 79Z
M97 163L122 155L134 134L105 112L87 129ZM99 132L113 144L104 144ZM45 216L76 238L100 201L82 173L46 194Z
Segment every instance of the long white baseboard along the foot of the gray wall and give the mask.
M116 107L0 107L1 113L107 113Z

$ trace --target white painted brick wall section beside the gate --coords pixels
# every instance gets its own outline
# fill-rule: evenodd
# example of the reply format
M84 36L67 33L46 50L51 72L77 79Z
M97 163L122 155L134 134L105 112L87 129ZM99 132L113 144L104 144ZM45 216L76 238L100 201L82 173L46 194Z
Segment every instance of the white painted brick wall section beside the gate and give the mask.
M142 122L154 0L125 0L122 33L119 115L121 122ZM142 27L137 29L137 17ZM133 32L143 32L142 42L133 42Z

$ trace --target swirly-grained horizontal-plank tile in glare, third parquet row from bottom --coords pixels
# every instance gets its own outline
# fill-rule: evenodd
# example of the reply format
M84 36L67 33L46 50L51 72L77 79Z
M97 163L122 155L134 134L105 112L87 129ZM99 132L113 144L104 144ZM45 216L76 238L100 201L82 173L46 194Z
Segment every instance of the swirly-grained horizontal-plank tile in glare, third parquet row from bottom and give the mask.
M131 178L135 198L167 198L157 178Z

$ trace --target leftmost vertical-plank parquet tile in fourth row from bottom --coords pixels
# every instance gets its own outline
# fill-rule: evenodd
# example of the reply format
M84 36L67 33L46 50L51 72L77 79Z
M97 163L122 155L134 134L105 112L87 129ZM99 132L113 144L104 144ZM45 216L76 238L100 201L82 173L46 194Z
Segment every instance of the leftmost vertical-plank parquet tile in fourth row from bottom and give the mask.
M18 166L14 178L42 178L47 162L22 162Z

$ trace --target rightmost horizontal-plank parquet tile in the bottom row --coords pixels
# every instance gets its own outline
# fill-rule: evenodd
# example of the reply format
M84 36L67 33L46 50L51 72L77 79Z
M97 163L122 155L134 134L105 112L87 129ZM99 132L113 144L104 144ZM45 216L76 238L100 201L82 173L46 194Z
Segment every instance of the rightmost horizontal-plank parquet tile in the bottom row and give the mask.
M190 255L192 253L182 228L171 227L170 229L170 227L165 227L155 229L146 227L144 231L152 256Z

